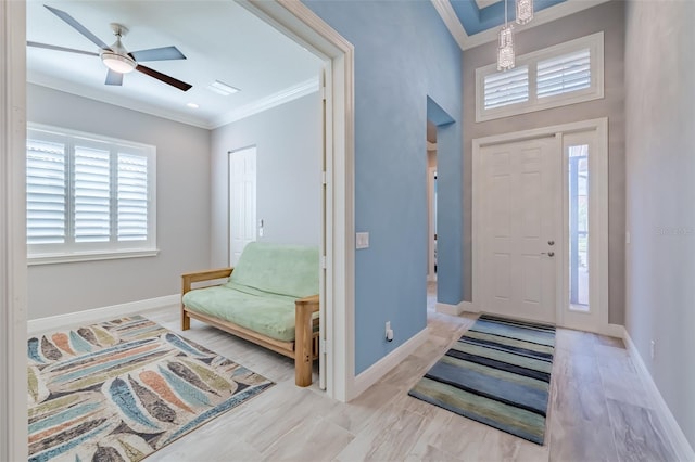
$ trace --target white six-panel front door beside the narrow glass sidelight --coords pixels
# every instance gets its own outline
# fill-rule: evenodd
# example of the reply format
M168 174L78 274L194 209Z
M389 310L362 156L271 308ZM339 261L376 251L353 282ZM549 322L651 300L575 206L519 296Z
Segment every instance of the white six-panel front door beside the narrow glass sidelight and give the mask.
M481 310L555 322L561 260L557 137L482 146Z

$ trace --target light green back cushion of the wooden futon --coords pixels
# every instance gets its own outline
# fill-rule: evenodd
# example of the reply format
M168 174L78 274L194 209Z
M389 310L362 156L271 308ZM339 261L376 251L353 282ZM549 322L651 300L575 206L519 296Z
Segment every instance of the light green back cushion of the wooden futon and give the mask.
M318 247L251 242L226 285L299 298L318 294Z

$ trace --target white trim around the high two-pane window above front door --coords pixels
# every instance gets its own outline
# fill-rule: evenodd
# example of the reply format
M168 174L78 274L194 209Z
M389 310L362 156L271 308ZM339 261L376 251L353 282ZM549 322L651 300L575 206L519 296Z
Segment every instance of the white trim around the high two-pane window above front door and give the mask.
M563 54L589 48L591 60L591 85L589 88L539 99L536 97L538 63ZM604 98L604 33L599 31L574 40L558 43L542 50L517 56L517 66L529 66L529 99L520 103L484 108L484 78L496 74L496 64L476 69L476 123L493 120L502 117L528 114L570 104Z

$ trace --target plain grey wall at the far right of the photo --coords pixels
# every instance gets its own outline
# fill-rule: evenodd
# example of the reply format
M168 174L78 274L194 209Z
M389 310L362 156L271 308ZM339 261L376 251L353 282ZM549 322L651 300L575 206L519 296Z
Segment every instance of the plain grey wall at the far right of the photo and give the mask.
M627 323L695 447L693 1L628 2ZM655 357L649 344L656 342Z

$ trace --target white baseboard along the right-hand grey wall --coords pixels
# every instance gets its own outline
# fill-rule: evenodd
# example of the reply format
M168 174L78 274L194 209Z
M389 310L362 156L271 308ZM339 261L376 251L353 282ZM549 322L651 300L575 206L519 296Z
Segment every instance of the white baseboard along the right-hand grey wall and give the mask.
M664 400L661 393L654 383L654 378L652 377L649 370L644 363L644 360L642 359L642 355L640 355L637 347L632 342L632 338L630 337L627 329L623 329L622 338L624 339L628 351L630 352L634 365L637 369L637 373L642 376L644 384L647 387L647 393L652 396L652 399L654 399L654 403L656 405L655 411L659 421L661 422L661 425L664 426L666 437L669 439L669 441L671 442L671 447L675 451L677 460L695 461L695 451L693 451L693 448L687 441L687 438L685 438L683 431L675 421L675 418Z

